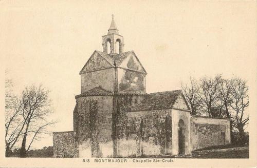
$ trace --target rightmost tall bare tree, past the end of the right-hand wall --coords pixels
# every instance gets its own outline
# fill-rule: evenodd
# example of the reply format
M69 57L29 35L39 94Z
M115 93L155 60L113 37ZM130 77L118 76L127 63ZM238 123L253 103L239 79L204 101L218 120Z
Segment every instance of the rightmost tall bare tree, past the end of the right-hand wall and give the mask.
M238 129L239 141L243 143L245 126L249 121L249 115L245 114L245 109L249 106L248 86L246 81L240 78L233 78L231 82L231 94L233 97L231 108L235 112L232 116L233 127Z

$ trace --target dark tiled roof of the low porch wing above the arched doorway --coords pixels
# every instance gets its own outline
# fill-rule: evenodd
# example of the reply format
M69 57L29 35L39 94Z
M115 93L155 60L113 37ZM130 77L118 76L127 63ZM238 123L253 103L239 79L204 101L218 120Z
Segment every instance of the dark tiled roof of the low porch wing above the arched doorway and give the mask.
M151 93L145 99L131 109L131 111L146 111L157 109L171 109L182 90Z

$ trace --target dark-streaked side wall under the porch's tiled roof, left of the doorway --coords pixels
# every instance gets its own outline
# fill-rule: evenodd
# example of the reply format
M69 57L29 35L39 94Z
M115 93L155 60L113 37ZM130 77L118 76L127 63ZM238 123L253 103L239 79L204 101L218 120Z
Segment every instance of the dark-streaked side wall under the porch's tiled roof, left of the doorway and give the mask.
M122 104L126 104L125 100L123 97ZM169 111L127 112L120 109L117 123L118 156L170 154L172 123Z

